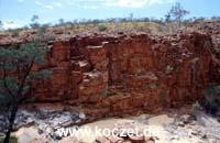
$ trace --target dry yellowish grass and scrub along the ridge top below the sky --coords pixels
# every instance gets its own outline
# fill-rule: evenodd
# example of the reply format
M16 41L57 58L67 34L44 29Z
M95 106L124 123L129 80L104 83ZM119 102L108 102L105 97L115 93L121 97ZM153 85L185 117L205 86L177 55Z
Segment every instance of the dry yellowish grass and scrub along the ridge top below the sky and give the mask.
M84 21L73 21L73 22L65 22L63 19L59 21L58 24L40 24L37 22L38 16L32 18L32 23L30 24L31 29L41 29L43 28L47 32L54 33L63 33L63 34L77 34L81 32L119 32L119 31L144 31L151 34L167 34L167 33L174 33L177 30L177 23L172 19L170 15L165 15L165 19L155 20L155 19L148 19L148 18L142 18L142 19L107 19L107 20L84 20ZM184 31L194 31L194 29L188 28L188 24L196 21L197 19L189 19L189 20L182 20L180 26L178 30ZM205 19L205 21L208 21ZM185 24L184 24L185 23ZM3 31L3 33L13 33L15 30L8 30ZM25 33L23 31L29 31L29 26L23 26L20 30L20 33ZM21 34L20 34L21 35ZM16 36L14 36L16 37Z

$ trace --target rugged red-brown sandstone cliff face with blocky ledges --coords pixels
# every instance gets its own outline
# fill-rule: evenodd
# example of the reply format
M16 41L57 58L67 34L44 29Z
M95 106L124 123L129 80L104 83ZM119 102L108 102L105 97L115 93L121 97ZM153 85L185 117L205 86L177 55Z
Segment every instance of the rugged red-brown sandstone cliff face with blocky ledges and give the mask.
M75 36L56 41L51 79L35 82L36 101L82 106L96 118L201 100L210 81L212 42L206 34Z

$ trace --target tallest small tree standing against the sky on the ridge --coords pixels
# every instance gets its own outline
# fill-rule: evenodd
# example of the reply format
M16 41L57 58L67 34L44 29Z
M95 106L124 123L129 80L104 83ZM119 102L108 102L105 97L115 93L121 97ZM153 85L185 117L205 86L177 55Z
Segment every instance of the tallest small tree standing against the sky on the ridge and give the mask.
M187 14L189 14L189 11L185 10L182 4L177 2L175 6L172 7L167 15L170 15L179 28L184 16L186 16Z

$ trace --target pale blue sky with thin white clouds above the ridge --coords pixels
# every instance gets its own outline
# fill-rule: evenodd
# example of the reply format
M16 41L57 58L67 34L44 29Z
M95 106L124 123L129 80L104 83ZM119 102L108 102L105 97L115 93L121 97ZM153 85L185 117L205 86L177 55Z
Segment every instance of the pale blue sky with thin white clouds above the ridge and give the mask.
M41 23L82 19L164 18L175 2L190 11L190 16L220 16L220 0L0 0L3 28L28 25L33 14Z

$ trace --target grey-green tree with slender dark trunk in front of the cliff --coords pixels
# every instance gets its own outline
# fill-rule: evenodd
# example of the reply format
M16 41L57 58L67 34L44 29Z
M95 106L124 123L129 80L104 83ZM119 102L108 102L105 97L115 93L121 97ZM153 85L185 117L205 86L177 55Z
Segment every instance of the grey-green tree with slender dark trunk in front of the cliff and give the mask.
M19 107L31 98L29 91L32 82L51 75L50 70L32 70L34 65L44 64L45 52L46 48L37 47L36 43L23 44L19 48L0 47L0 97L8 109L3 143L10 141Z

